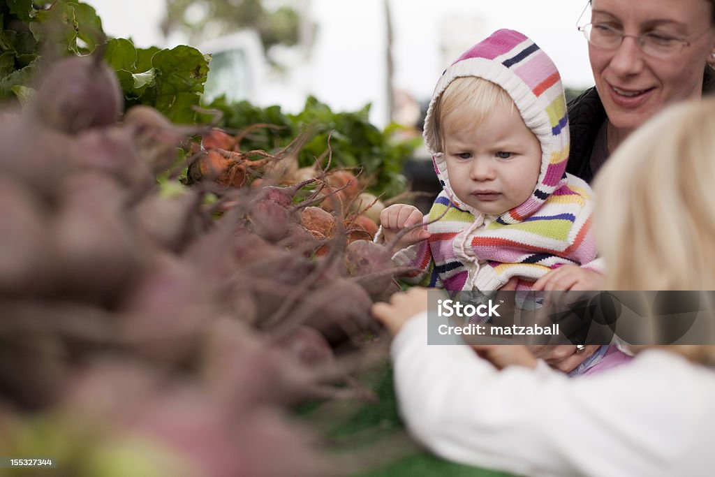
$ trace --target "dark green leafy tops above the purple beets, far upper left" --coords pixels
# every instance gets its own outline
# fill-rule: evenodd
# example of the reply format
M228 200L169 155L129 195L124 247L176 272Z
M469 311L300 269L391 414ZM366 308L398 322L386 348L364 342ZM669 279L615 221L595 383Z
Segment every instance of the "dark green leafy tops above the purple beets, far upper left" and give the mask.
M46 64L98 46L117 72L126 107L147 104L177 123L194 123L208 72L207 57L190 46L137 49L127 39L107 40L92 6L57 0L35 9L31 0L0 4L0 102L31 98L31 84ZM38 7L39 8L39 7Z

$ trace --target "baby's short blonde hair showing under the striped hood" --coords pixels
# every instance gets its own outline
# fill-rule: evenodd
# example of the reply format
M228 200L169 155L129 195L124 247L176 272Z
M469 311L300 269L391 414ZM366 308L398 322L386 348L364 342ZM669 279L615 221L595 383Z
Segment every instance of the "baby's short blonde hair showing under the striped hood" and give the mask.
M432 123L433 136L437 142L435 152L444 152L444 122L463 124L465 128L476 128L484 122L498 104L516 107L509 94L498 85L483 78L455 78L440 98L435 102Z

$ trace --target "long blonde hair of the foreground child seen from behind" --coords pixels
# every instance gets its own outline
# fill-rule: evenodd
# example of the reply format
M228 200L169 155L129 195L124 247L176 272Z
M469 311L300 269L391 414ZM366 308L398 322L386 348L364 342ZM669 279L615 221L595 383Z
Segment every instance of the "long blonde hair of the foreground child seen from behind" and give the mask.
M715 290L715 98L664 109L596 177L608 290ZM715 365L715 346L669 350Z

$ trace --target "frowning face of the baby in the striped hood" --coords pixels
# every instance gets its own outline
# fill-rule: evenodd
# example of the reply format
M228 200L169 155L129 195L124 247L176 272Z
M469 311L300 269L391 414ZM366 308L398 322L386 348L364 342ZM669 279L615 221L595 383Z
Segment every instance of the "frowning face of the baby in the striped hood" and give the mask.
M449 182L460 202L500 215L528 199L541 172L541 144L516 107L498 104L479 127L444 118Z

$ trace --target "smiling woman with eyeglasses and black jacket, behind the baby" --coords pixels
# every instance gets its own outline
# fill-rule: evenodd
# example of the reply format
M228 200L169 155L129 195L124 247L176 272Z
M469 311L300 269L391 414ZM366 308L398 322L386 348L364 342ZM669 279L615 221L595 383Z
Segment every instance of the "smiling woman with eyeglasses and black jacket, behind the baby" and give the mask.
M588 58L596 86L569 104L566 172L591 182L618 144L666 105L715 92L715 0L591 0ZM588 7L588 5L587 5ZM557 279L553 276L551 279ZM591 273L590 285L600 287ZM558 286L538 282L535 290ZM598 346L533 353L569 372Z

